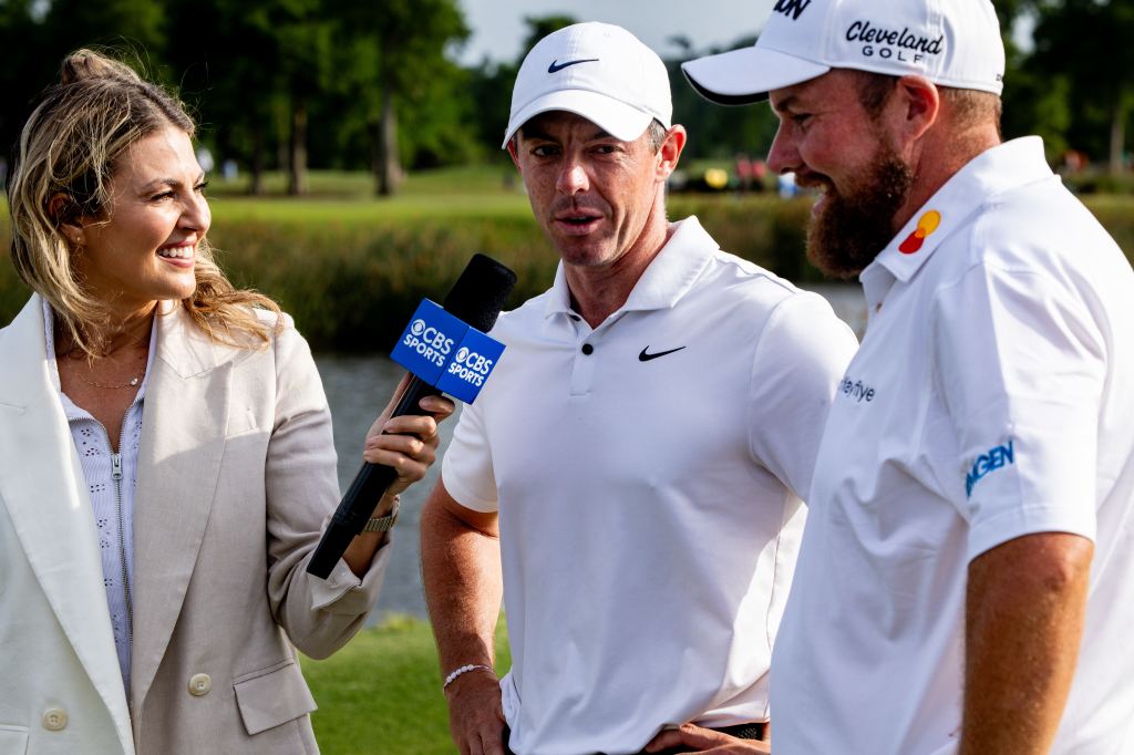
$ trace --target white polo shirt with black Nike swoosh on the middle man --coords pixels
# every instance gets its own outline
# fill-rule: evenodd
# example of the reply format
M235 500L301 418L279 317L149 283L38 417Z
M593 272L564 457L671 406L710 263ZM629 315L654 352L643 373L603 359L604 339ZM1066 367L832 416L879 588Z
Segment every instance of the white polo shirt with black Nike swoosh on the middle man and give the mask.
M592 330L555 286L442 464L499 510L519 755L636 753L666 724L768 718L816 443L856 341L814 294L682 222Z

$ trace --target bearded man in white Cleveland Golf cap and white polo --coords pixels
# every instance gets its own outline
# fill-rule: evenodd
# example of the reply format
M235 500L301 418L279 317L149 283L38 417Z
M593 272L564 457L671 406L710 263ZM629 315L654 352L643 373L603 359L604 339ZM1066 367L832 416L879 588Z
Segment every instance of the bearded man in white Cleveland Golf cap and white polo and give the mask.
M820 442L772 659L779 753L1126 753L1134 273L1001 143L987 0L779 0L685 65L770 99L811 257L870 319ZM769 752L695 727L650 747Z

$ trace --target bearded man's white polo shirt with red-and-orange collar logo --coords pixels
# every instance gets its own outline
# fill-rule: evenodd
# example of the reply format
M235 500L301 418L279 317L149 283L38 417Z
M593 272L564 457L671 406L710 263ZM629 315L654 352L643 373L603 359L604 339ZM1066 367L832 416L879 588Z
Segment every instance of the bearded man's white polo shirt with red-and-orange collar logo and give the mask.
M1134 752L1129 263L1031 137L970 162L861 278L776 647L777 755L955 753L968 562L1041 532L1095 543L1051 752Z

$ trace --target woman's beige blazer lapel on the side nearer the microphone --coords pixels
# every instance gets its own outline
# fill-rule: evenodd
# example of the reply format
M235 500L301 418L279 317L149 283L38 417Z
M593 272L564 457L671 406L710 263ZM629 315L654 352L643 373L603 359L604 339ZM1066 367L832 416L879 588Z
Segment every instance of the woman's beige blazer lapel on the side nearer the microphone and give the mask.
M158 317L154 332L134 503L135 714L169 645L209 521L236 353L210 341L179 306Z

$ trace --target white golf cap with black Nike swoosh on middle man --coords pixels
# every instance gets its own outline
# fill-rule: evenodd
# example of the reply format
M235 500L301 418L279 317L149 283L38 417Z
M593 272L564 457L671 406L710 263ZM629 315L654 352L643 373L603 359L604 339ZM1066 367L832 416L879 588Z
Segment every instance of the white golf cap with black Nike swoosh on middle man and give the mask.
M655 118L669 128L674 102L666 65L619 26L575 24L552 32L519 67L501 146L549 110L582 116L624 142L642 136Z

